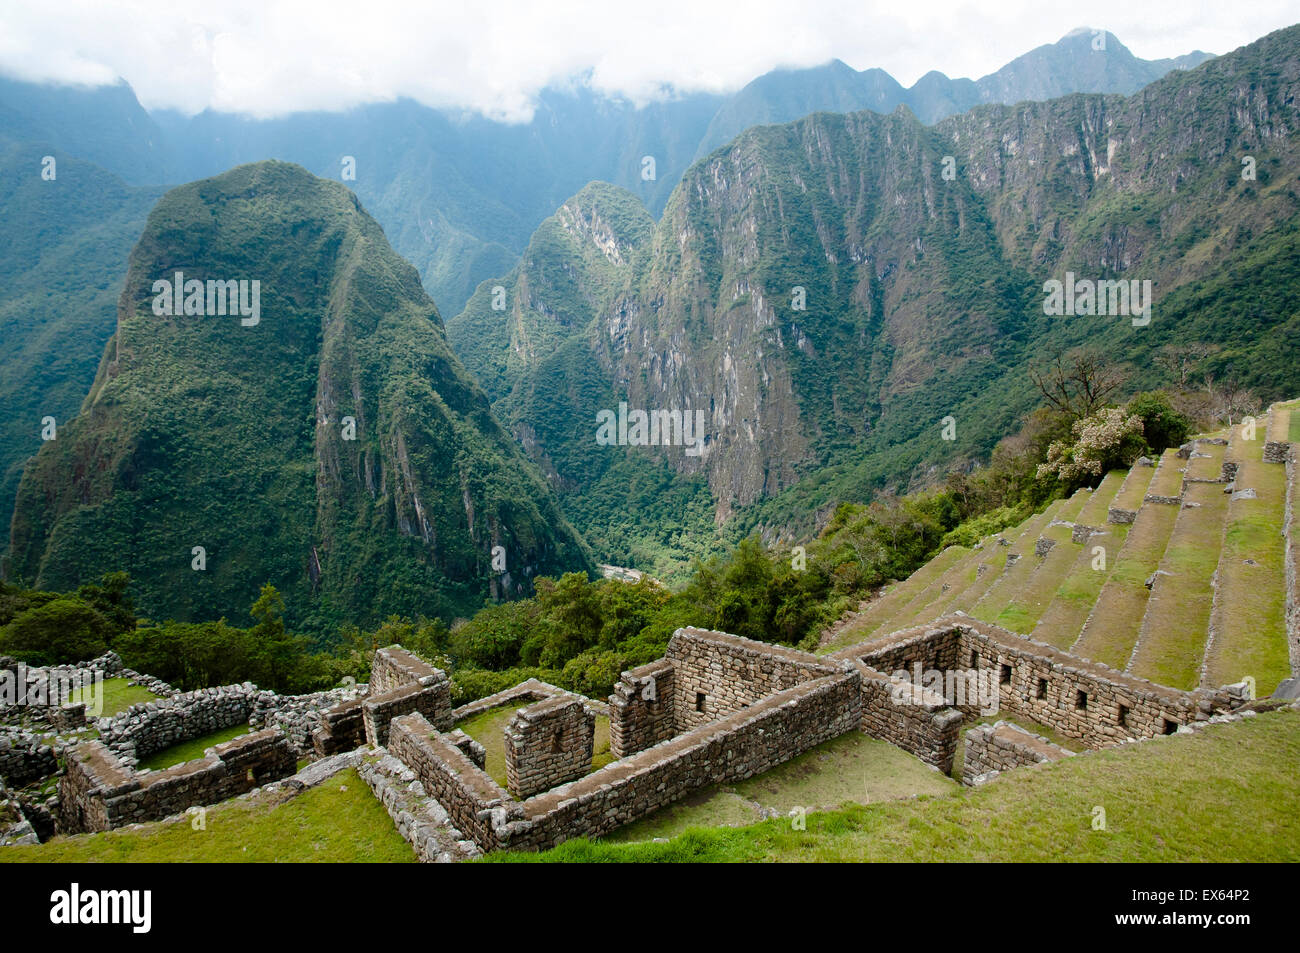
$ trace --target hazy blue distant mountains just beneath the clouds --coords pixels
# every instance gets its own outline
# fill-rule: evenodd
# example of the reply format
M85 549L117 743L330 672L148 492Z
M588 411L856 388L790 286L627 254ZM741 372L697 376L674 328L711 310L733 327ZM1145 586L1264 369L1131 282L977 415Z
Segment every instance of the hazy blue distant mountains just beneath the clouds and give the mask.
M928 124L979 103L1128 94L1208 59L1144 61L1112 34L1102 51L1092 42L1093 31L1075 33L984 79L931 73L911 90L883 70L857 73L838 61L774 70L732 95L677 95L642 108L576 83L543 90L532 121L517 125L411 100L277 120L212 111L151 114L125 83L81 90L14 81L0 81L0 116L20 138L49 142L134 185L187 182L263 159L337 179L343 156L352 156L356 178L347 185L420 270L438 307L454 315L482 280L517 261L543 218L593 179L628 189L658 216L692 161L754 125L822 111L890 113L900 104Z

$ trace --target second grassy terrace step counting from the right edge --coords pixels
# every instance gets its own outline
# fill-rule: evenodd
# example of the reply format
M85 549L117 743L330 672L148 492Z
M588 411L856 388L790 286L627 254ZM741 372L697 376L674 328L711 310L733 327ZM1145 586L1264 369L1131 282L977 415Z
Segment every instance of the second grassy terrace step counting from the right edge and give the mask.
M1160 569L1170 575L1157 576L1147 599L1128 664L1134 675L1182 689L1200 683L1226 515L1227 494L1221 484L1187 485L1160 560Z

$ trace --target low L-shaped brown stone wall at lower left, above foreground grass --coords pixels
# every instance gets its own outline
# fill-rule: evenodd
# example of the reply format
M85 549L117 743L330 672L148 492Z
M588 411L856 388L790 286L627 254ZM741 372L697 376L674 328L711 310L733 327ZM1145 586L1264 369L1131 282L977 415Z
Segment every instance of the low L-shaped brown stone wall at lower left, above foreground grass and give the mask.
M292 746L270 728L216 745L203 758L166 771L133 771L107 745L87 741L69 753L58 784L60 831L110 831L160 820L287 777L295 767Z

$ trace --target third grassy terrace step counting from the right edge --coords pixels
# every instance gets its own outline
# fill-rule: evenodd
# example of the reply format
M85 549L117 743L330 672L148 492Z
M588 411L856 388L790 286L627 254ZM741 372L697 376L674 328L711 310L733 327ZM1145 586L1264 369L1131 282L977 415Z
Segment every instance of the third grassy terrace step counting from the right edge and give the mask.
M1157 471L1156 478L1158 477ZM1152 480L1153 485L1156 478ZM1175 488L1173 494L1160 495L1176 494ZM1178 510L1179 507L1166 503L1145 503L1138 511L1123 547L1109 556L1114 560L1110 577L1101 588L1079 640L1070 649L1075 655L1105 662L1114 668L1123 668L1128 662L1147 611L1147 577L1160 566L1178 520Z

